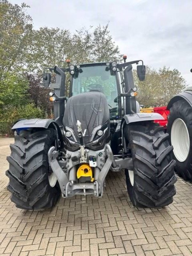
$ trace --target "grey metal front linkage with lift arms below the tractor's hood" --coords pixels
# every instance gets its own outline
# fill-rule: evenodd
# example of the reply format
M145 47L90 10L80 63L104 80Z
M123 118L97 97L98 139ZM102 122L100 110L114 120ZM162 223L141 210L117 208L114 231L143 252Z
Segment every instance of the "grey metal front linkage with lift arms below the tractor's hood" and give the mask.
M121 165L117 166L114 159L113 152L109 144L101 150L85 149L81 123L77 120L78 136L80 137L80 149L72 152L67 150L65 158L59 157L59 152L55 150L55 147L51 147L48 152L49 164L55 173L57 180L60 184L61 194L63 197L71 197L76 194L80 195L94 195L100 197L103 194L103 185L106 175L111 168L115 171L122 169ZM107 158L107 160L105 160ZM60 160L58 160L60 159ZM127 168L132 169L132 159L127 158L121 160L121 164L124 162ZM90 167L94 167L94 178L92 170L90 170L89 183L76 183L76 165L86 163ZM86 173L87 165L82 165L79 168L83 168L83 175ZM114 167L113 167L114 166ZM99 167L99 168L98 168Z

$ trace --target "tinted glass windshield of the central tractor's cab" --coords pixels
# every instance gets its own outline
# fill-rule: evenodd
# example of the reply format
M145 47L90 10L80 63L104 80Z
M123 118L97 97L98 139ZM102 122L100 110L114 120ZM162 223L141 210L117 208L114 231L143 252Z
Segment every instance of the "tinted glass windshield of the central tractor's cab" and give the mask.
M103 92L108 101L110 119L118 118L118 92L116 76L106 66L82 67L82 73L73 77L72 96L83 92ZM116 102L114 102L114 100Z

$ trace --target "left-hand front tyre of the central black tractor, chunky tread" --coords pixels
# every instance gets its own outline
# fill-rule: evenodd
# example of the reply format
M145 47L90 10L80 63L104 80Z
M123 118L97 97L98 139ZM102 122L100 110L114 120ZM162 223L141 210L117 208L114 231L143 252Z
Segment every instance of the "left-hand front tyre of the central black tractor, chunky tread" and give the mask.
M20 131L15 143L10 145L11 156L7 157L9 177L7 189L16 207L26 210L43 210L56 204L60 197L58 181L49 183L48 150L54 145L54 129L30 133Z

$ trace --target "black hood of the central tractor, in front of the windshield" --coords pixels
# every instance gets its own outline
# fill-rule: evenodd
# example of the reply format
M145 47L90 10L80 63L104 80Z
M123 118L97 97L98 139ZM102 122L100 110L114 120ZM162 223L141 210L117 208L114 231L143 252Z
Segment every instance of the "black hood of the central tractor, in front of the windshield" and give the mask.
M98 139L97 131L103 130L104 136L109 131L109 108L102 92L84 92L69 98L63 117L64 129L70 128L80 143L77 132L77 120L81 122L85 145ZM104 131L105 130L105 131ZM69 138L70 140L70 138Z

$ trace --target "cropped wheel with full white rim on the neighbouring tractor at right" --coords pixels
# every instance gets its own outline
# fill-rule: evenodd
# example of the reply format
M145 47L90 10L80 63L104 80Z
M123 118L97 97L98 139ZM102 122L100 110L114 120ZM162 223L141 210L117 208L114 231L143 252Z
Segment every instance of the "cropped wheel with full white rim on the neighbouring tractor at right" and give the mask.
M173 146L175 171L192 181L192 107L185 100L176 101L170 108L167 132Z

